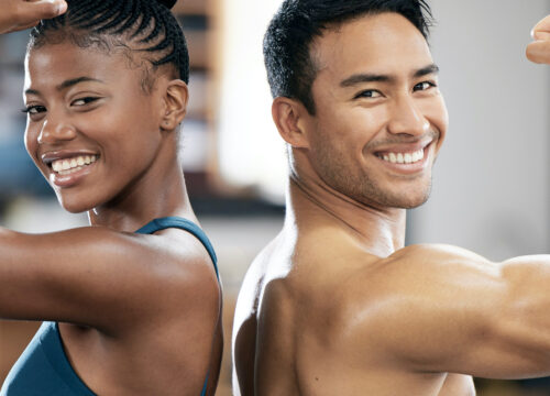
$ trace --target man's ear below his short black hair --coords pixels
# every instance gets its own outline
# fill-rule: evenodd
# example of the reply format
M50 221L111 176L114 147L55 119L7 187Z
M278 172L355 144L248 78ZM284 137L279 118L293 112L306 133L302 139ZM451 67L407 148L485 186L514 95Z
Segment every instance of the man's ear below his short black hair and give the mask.
M311 116L298 100L277 97L272 105L272 116L280 136L295 148L309 147L307 125Z

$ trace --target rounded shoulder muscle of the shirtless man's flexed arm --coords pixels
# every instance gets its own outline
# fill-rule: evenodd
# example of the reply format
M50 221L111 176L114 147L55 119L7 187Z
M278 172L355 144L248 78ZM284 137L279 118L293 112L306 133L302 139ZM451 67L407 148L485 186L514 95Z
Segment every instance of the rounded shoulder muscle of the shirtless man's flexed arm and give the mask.
M483 323L502 296L501 271L475 253L440 244L370 261L342 285L344 342L377 364L446 369L437 364L484 338Z

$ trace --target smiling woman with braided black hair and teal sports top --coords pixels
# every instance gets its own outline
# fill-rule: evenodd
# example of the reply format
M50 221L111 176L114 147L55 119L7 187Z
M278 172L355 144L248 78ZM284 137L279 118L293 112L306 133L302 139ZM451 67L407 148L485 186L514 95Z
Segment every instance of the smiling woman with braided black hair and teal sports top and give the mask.
M90 227L0 230L0 317L45 320L0 394L213 395L221 290L178 157L175 1L67 3L31 34L25 146Z

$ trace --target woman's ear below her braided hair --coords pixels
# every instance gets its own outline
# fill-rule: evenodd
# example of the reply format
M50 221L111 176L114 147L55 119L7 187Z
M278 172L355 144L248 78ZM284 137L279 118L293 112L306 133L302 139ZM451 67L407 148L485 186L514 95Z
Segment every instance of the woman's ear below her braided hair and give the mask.
M161 129L165 131L175 130L187 113L187 101L189 89L187 84L180 79L169 80L164 90L164 113L161 118Z

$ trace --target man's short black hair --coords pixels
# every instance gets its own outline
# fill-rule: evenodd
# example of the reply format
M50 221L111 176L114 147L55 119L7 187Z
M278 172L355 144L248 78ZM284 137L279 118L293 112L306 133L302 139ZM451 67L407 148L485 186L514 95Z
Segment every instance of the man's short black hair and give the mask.
M431 11L425 0L285 0L264 38L273 97L297 99L315 114L311 86L318 69L311 58L311 43L326 29L383 12L402 14L428 37Z

